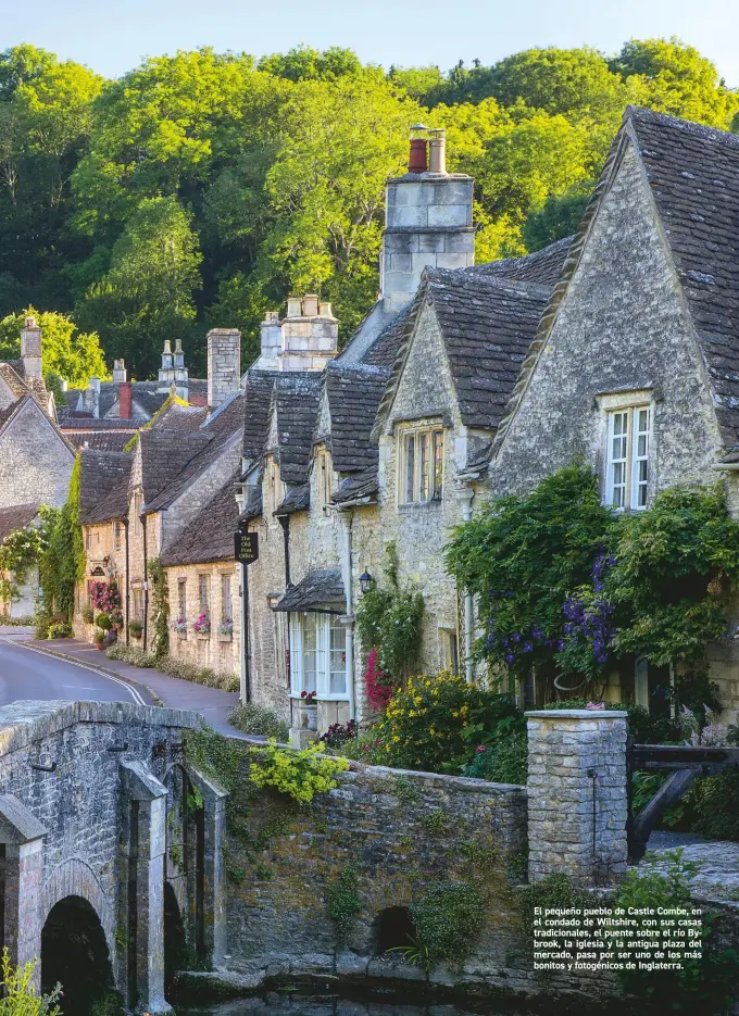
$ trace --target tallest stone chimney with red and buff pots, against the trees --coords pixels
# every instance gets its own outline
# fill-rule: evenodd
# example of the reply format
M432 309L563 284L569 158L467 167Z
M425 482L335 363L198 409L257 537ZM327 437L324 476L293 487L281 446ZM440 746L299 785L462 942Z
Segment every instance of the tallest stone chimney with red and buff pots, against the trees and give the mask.
M413 299L425 267L475 263L473 178L447 173L443 130L417 124L413 131L429 134L430 140L414 137L409 172L387 183L380 265L386 311L398 311Z

